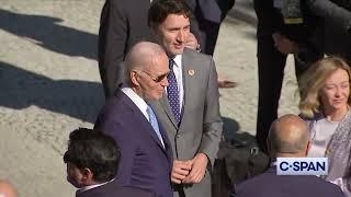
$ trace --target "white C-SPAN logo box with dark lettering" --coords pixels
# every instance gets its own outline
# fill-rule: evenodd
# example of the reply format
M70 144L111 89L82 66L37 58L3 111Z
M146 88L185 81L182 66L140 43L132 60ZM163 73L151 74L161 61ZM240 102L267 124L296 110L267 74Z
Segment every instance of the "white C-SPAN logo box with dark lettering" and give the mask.
M327 175L327 158L276 158L278 175Z

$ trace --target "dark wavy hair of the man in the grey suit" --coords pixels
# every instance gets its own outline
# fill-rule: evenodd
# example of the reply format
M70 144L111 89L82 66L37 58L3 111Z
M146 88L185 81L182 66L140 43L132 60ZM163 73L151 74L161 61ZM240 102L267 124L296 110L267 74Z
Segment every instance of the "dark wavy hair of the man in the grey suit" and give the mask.
M148 13L148 26L154 28L163 23L169 14L183 14L193 19L193 14L184 0L159 0L152 1Z

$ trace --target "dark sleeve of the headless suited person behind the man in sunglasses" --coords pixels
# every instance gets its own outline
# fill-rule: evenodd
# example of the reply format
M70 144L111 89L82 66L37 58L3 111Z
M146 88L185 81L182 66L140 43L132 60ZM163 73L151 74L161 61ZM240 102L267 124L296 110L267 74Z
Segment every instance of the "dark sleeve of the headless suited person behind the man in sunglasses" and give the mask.
M120 0L106 0L99 30L99 69L105 96L116 89L117 67L126 54L127 20Z

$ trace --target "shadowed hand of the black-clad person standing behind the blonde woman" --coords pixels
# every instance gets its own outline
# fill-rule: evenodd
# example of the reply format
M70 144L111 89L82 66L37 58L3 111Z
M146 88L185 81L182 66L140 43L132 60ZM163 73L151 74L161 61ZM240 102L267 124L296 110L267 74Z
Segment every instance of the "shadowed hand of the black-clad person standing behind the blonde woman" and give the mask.
M298 50L297 44L295 42L290 40L284 35L280 33L274 33L272 35L272 38L274 40L274 46L280 53L285 55L297 53Z

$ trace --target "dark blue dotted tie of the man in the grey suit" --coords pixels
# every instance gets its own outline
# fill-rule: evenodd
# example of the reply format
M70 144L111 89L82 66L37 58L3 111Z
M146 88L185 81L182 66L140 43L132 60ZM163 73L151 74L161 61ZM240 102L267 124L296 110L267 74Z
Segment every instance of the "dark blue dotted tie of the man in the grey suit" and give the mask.
M177 124L180 121L180 102L179 102L179 91L178 91L178 83L176 79L176 74L173 71L174 60L169 60L169 76L168 79L168 88L167 88L167 94L168 94L168 101L171 106L171 109L173 112L174 118Z

